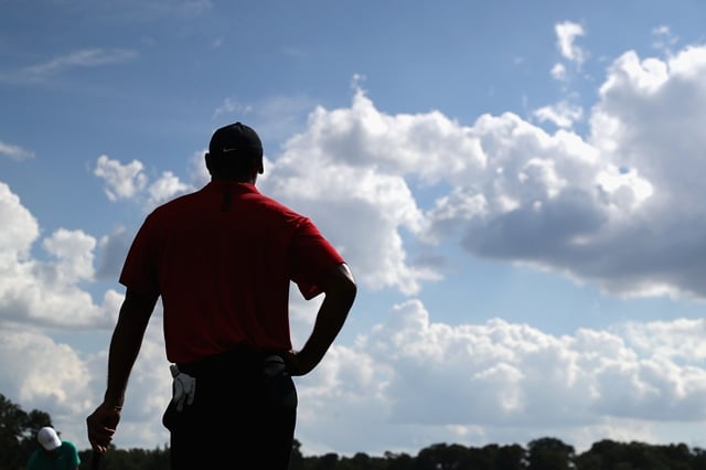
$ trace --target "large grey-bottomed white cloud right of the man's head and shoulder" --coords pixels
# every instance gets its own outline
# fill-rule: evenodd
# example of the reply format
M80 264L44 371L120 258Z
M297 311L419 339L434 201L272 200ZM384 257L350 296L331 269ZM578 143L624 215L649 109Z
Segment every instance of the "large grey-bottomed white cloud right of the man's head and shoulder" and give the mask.
M627 217L653 194L639 167L612 160L574 132L550 135L510 113L481 116L472 127L436 111L388 116L359 90L351 108L317 109L261 186L311 215L368 287L418 291L440 273L416 266L405 237L440 243L456 233L477 255L609 288L610 266L622 267L605 255L607 237L624 233ZM424 188L440 194L432 206L419 205L416 191ZM347 224L332 222L341 213ZM603 271L595 271L599 259L608 261ZM644 285L616 286L646 292Z

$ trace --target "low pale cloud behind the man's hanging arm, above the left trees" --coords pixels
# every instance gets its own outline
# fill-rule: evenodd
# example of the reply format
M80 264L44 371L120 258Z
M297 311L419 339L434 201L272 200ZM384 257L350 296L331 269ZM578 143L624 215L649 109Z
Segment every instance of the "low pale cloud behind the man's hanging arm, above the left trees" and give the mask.
M126 394L117 437L121 448L169 442L160 418L170 399L171 375L161 340L160 312L153 317ZM0 329L2 394L26 412L49 412L57 430L79 449L89 448L85 417L100 403L106 386L109 335L107 331L93 334L100 338L105 349L79 353L71 344L40 332Z

